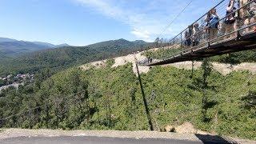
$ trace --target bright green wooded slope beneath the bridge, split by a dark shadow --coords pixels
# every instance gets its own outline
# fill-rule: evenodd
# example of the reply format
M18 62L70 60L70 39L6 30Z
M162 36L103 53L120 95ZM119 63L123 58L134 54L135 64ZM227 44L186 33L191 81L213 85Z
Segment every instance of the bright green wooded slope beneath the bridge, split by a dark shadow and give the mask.
M132 65L111 68L114 60L106 63L101 69L74 67L50 78L45 71L34 84L3 90L0 126L149 130ZM155 66L142 74L142 85L154 130L192 122L200 130L256 140L256 77L248 71L224 76L205 60L191 77L190 70Z

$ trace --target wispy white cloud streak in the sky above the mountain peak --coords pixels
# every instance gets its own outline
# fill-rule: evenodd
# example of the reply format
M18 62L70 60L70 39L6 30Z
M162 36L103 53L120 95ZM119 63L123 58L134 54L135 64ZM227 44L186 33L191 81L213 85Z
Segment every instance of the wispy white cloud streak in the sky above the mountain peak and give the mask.
M150 40L150 37L154 37L159 34L160 29L166 26L166 18L163 16L158 16L159 19L156 20L152 14L154 6L152 2L149 2L145 9L136 7L126 7L126 2L124 1L114 1L114 0L76 0L80 2L82 6L87 6L97 11L100 14L108 18L114 18L118 21L128 24L131 28L130 34L134 34L136 38L140 38L146 41ZM129 1L130 2L130 1ZM157 2L157 1L155 1ZM150 10L150 13L147 11ZM170 32L168 30L168 32ZM153 38L154 39L154 38Z

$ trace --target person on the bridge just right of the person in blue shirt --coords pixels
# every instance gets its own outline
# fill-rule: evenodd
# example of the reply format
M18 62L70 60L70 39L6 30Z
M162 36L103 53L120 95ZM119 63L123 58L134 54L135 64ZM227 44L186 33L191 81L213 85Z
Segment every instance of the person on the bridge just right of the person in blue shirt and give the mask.
M225 34L228 34L230 32L234 32L234 30L237 30L237 21L235 19L235 10L237 10L236 7L234 7L235 0L230 0L229 5L226 7L226 18L225 18L225 24L226 24L226 30ZM234 38L236 36L236 33L231 34L231 38ZM229 36L226 35L224 39L228 38Z

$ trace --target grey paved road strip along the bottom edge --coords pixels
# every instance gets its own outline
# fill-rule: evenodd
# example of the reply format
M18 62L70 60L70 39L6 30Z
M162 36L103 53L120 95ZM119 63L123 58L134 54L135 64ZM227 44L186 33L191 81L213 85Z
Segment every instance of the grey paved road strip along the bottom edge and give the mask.
M135 138L98 138L98 137L18 137L0 140L1 144L202 144L213 142L171 140L171 139L135 139ZM219 142L215 142L219 143ZM225 142L226 143L226 142Z

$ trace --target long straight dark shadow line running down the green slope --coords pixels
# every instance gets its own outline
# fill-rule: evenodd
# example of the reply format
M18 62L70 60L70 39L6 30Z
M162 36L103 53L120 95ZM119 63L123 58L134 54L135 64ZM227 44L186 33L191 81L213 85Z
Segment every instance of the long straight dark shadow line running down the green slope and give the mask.
M141 90L142 90L142 97L143 97L143 102L144 102L144 106L145 106L145 109L146 109L146 116L147 116L147 119L148 119L148 122L149 122L149 125L150 125L150 130L153 131L154 127L153 127L153 123L152 123L151 116L150 116L150 110L149 110L147 102L146 102L146 96L145 96L144 89L143 89L143 86L142 86L141 75L139 74L139 71L138 71L138 63L137 62L136 62L136 69L137 69L137 73L138 73L139 85L141 86Z

